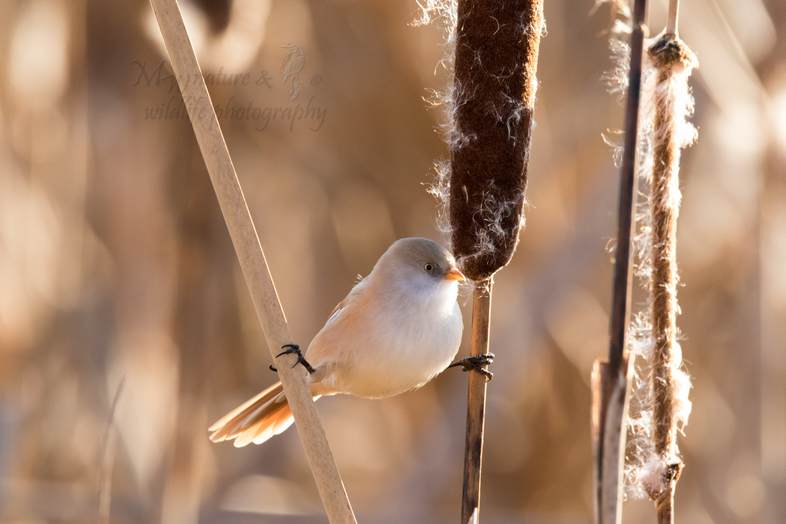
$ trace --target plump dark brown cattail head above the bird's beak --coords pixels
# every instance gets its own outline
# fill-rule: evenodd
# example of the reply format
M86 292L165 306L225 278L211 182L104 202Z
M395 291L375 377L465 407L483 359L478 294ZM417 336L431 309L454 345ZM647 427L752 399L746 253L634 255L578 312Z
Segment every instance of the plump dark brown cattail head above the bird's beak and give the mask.
M459 0L450 225L461 271L505 266L523 224L542 0Z

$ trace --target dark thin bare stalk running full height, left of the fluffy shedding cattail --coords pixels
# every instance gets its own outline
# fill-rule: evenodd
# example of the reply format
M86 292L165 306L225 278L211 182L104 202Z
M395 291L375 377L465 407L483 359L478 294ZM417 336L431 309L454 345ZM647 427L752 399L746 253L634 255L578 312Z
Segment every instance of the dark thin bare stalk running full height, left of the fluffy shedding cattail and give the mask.
M636 0L634 2L633 31L630 34L630 71L625 110L623 163L619 170L617 247L612 288L612 313L609 319L608 365L602 373L604 383L600 384L598 388L601 398L594 402L598 409L597 414L593 416L593 418L597 418L598 422L595 445L597 449L596 479L598 482L596 508L598 522L602 524L622 522L623 450L625 449L626 406L630 383L625 335L630 321L630 295L633 288L630 239L636 211L636 151L646 12L646 0ZM615 409L610 409L611 404L615 405ZM609 468L614 471L608 471Z

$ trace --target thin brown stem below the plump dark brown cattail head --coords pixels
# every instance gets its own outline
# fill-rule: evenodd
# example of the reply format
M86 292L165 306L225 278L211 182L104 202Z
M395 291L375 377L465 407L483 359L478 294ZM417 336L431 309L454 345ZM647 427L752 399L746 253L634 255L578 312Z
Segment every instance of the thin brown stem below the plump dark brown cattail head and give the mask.
M472 357L489 351L492 279L475 286L472 295ZM488 368L488 366L483 366ZM464 455L464 491L461 497L461 523L478 522L480 511L480 464L483 459L483 424L486 419L486 377L469 373L467 394L467 436Z

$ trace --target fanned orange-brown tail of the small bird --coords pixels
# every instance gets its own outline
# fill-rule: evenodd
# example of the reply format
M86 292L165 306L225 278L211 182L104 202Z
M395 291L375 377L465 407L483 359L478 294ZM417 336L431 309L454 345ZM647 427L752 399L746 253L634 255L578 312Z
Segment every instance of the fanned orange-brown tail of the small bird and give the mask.
M321 395L314 395L314 400ZM256 397L227 413L213 424L208 431L213 433L213 442L235 439L235 447L242 448L249 442L262 444L292 426L292 409L284 394L284 388L277 382Z

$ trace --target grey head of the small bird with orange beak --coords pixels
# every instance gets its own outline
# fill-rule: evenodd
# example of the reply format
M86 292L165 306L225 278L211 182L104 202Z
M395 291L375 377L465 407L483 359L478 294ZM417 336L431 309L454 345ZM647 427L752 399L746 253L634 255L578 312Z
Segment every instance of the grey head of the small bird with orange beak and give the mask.
M397 240L376 262L372 273L380 284L417 293L424 301L438 297L455 300L458 281L465 280L450 251L426 238Z

